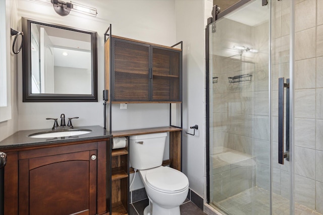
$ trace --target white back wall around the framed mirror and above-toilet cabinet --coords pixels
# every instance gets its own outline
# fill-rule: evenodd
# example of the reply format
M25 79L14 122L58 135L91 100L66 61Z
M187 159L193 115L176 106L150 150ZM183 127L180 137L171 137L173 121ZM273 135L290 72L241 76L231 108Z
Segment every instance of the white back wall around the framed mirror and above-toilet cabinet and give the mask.
M55 13L52 7L29 0L19 0L18 15L51 23L96 31L98 33L98 102L22 102L22 68L19 68L19 130L50 128L52 121L46 117L79 116L75 126L103 126L104 88L104 32L112 24L114 35L133 38L162 45L175 44L175 12L173 0L156 1L83 1L84 4L97 9L97 17L85 16L71 12L66 17ZM21 20L18 21L21 25ZM21 62L21 58L20 58ZM21 65L21 63L20 63ZM108 107L108 106L107 106ZM113 105L113 130L144 128L147 126L169 125L168 105L128 104L127 110L120 110ZM145 113L144 116L138 113ZM147 117L149 116L149 117ZM109 121L109 120L107 120Z

